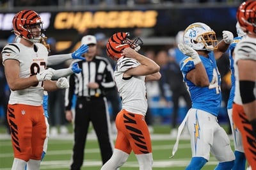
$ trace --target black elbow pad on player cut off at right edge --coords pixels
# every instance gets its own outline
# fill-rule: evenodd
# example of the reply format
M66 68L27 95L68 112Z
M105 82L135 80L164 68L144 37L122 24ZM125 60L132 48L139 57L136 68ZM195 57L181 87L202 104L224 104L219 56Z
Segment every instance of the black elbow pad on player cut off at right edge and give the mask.
M240 95L243 104L248 104L255 100L253 89L255 82L253 81L239 81Z

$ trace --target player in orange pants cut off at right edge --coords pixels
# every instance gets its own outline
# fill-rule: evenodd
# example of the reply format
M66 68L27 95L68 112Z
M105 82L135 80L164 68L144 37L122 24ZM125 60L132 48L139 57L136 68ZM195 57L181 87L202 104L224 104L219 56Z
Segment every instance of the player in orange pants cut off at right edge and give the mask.
M242 3L236 17L246 35L234 49L236 91L232 116L242 135L246 159L256 169L256 1Z

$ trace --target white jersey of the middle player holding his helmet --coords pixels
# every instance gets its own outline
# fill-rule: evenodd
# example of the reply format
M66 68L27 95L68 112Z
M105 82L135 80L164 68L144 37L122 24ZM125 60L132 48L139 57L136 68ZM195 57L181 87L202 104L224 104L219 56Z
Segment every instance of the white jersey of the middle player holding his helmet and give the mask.
M125 71L139 65L138 61L131 58L118 59L114 79L122 99L122 109L145 116L148 109L145 76L123 77Z

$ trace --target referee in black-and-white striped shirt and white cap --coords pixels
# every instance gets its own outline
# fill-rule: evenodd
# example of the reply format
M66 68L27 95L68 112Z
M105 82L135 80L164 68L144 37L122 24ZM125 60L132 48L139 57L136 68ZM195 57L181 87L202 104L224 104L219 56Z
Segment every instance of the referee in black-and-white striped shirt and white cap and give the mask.
M71 170L81 169L84 160L84 148L88 127L92 121L96 132L102 163L109 160L113 153L111 128L109 121L106 91L115 88L113 81L113 68L108 59L96 56L97 42L95 36L86 35L81 40L82 44L89 46L84 54L84 61L78 61L81 73L68 77L70 88L66 90L65 106L66 118L74 118L74 148L72 154ZM76 95L76 114L71 111L72 97Z

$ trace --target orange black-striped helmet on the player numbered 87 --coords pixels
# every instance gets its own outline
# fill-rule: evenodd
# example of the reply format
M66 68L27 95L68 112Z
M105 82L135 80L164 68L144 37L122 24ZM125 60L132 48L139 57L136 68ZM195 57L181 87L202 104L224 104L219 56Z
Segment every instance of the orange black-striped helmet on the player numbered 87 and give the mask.
M12 20L14 33L17 36L25 38L33 43L42 42L46 38L44 30L42 29L43 22L38 13L32 10L22 10L13 17ZM31 27L39 26L40 34L35 37Z

